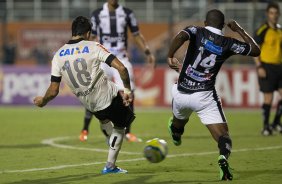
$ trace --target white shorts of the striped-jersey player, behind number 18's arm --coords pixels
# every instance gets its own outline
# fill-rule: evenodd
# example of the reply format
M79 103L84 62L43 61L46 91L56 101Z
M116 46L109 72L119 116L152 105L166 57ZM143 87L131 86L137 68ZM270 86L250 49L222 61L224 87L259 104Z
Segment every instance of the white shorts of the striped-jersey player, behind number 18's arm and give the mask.
M118 59L127 68L127 71L128 71L128 74L129 74L129 79L130 79L130 86L131 86L131 89L134 90L135 89L135 83L134 83L134 75L133 75L132 64L129 62L129 59L127 57L124 57L122 59L118 58ZM105 74L107 75L107 77L110 80L113 80L115 84L117 84L119 90L124 89L123 82L120 78L118 71L115 68L110 67L106 63L101 63L101 68L105 71Z

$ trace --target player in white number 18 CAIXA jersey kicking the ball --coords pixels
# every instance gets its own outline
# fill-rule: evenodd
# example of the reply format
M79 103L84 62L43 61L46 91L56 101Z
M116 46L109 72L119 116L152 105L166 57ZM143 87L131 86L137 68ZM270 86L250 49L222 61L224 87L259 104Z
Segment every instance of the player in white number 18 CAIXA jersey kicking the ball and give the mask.
M127 173L115 165L123 142L125 127L132 123L135 115L129 108L132 102L131 86L126 67L101 44L88 41L91 35L91 22L79 16L72 23L72 38L62 46L52 60L51 84L44 97L34 98L34 104L43 107L59 93L61 78L72 92L99 120L110 120L113 130L109 137L107 173ZM124 92L108 80L101 63L115 68L123 81Z

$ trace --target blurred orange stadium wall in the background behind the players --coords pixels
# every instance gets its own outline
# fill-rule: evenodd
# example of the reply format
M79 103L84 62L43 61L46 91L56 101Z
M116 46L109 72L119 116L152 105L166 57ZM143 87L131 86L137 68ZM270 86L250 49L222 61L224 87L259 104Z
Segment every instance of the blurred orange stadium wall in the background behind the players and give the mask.
M160 62L166 62L166 55L168 46L172 37L179 32L179 30L188 25L199 25L197 21L182 21L177 24L170 25L168 23L140 23L139 27L148 41L150 48L156 54ZM47 52L48 59L51 60L53 53L66 43L70 37L71 22L9 22L7 24L0 24L0 46L3 46L4 40L7 43L15 44L16 46L16 61L17 66L31 66L38 64L36 57L34 57L34 50L40 48ZM225 30L225 34L231 37L238 37L237 34L231 32L229 29ZM129 51L132 50L133 40L129 34ZM44 47L44 48L42 48ZM0 49L0 64L1 53ZM182 58L185 53L185 48L182 47L176 53L178 58ZM129 54L132 54L129 52ZM142 56L142 53L139 53ZM137 59L138 60L138 59ZM133 59L134 62L134 59ZM138 62L137 62L138 63Z

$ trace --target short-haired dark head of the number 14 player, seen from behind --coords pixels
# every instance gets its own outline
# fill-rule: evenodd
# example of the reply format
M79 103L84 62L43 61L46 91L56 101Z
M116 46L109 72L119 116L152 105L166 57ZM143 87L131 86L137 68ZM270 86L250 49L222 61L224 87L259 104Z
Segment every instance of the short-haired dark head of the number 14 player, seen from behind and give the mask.
M224 14L217 9L208 11L206 15L206 23L208 26L222 29L224 27Z

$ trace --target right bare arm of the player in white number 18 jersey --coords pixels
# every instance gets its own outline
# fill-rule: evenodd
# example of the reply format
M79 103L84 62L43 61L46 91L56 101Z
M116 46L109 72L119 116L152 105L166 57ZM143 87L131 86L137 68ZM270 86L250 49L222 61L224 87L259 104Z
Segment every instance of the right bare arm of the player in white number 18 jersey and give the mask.
M111 66L117 69L117 71L119 72L120 78L124 85L123 103L124 105L128 106L132 103L133 96L131 93L130 79L127 68L117 58L115 58L111 62Z

